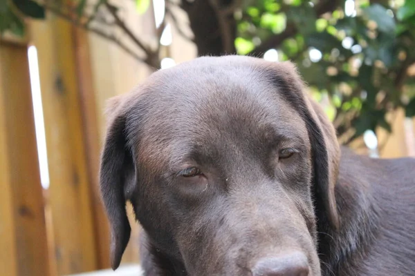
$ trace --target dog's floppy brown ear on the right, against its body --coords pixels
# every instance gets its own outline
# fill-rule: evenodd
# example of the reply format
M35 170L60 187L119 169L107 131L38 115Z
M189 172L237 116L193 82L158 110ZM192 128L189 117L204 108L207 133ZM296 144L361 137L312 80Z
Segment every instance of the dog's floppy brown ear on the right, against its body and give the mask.
M338 177L340 146L335 129L320 105L305 92L304 83L293 63L268 63L266 71L282 98L299 112L306 123L313 158L316 213L320 219L324 217L334 229L338 229L334 188Z

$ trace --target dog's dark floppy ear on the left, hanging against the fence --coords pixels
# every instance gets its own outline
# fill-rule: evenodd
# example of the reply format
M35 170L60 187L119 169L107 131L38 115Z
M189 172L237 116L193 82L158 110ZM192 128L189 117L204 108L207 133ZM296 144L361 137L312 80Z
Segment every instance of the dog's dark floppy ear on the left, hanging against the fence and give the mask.
M100 164L100 191L111 226L111 267L114 270L120 265L131 233L124 191L136 179L133 155L127 147L126 112L121 105L120 97L109 101L108 129Z

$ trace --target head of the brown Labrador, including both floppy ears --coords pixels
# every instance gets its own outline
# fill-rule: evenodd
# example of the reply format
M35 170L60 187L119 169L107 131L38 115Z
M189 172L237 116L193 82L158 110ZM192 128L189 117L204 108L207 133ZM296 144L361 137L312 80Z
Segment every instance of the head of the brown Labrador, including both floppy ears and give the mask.
M113 99L100 174L113 268L129 200L188 275L320 275L339 148L303 89L291 63L203 57Z

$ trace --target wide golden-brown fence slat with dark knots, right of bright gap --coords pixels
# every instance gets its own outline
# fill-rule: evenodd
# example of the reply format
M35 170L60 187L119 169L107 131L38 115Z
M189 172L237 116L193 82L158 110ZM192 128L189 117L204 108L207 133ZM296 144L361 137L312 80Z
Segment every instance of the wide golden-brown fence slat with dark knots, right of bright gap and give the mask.
M57 274L95 270L98 258L77 90L73 26L48 14L46 21L31 22L31 37L40 61Z

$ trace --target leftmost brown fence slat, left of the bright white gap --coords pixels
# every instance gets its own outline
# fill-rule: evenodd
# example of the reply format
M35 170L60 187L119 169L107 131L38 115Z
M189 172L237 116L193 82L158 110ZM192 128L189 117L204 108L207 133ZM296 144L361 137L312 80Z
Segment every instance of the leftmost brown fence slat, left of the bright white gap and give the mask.
M3 275L47 276L44 200L26 46L0 44L0 79L0 267Z

